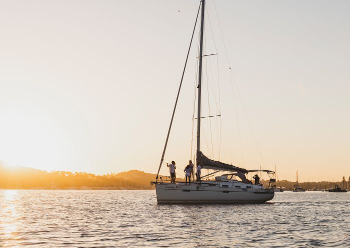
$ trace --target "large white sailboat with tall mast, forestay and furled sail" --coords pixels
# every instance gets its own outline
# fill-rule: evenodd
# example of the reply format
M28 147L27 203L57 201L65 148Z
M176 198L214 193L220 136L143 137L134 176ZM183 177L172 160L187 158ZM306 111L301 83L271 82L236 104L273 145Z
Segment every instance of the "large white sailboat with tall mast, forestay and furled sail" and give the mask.
M198 7L197 18L199 10L201 10L200 17L200 39L199 39L199 63L198 63L198 103L197 103L197 137L196 137L196 163L199 163L202 169L208 169L213 171L208 175L213 175L217 172L227 172L226 174L216 176L215 180L202 180L201 182L191 182L191 184L185 184L184 182L174 182L170 183L159 177L159 171L164 160L164 154L166 150L166 145L169 138L169 133L176 109L176 104L178 100L178 95L180 88L177 93L175 106L172 112L172 117L160 159L160 164L156 176L156 180L151 182L155 185L156 199L157 203L264 203L271 200L274 197L274 187L275 179L272 178L274 175L273 171L269 170L246 170L244 168L239 168L237 166L222 163L220 161L215 161L206 157L200 150L200 120L204 118L200 115L201 109L201 79L202 79L202 57L203 55L203 26L204 26L204 7L205 0L201 0ZM193 28L193 33L191 37L191 42L195 30L195 25ZM191 44L190 42L190 44ZM182 84L183 74L186 67L189 49L187 52L187 58L185 66L182 72L182 78L180 82L180 87ZM247 180L246 174L265 172L270 176L268 186L264 187L260 182L255 182L254 184ZM208 176L206 175L206 176ZM204 179L206 176L202 176Z

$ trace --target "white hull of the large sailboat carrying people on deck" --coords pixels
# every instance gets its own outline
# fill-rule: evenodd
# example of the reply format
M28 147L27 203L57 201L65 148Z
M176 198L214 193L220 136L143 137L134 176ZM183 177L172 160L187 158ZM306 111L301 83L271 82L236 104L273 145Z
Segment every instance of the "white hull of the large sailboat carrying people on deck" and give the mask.
M201 185L158 182L155 183L157 203L264 203L274 197L273 189L243 183L226 185L222 187L222 183L212 182L202 182Z

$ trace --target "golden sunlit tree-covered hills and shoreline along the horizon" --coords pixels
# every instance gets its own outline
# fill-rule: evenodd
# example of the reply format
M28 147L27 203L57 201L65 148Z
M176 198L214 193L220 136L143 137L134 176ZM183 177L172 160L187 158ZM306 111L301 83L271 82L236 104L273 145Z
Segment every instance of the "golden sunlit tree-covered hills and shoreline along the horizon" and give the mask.
M6 167L0 164L0 189L154 189L150 185L156 174L130 170L121 173L94 175L85 172L42 171L27 167ZM160 176L166 178L167 176ZM176 180L182 181L182 178ZM304 189L333 188L337 182L303 182L299 185ZM292 188L295 182L279 180L276 187ZM349 181L345 188L350 187Z

